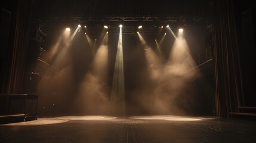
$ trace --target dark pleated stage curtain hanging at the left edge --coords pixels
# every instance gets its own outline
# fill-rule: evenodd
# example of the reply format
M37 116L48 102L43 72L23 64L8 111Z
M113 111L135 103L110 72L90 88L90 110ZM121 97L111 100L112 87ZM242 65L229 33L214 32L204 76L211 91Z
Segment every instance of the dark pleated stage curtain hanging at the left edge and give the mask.
M21 94L23 76L26 65L27 48L29 43L29 27L32 14L31 0L16 0L12 30L10 36L10 52L8 52L8 65L5 67L1 92L4 94Z

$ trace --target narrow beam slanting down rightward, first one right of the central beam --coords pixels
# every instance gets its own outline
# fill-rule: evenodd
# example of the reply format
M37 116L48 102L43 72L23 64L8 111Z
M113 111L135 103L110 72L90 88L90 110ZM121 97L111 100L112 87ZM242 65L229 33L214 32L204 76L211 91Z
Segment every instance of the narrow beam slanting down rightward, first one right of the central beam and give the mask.
M158 56L155 54L155 52L152 50L152 48L147 45L146 41L143 39L140 33L138 33L138 38L140 39L140 42L145 50L146 62L149 69L150 78L152 80L158 80L161 74L162 63L159 60Z

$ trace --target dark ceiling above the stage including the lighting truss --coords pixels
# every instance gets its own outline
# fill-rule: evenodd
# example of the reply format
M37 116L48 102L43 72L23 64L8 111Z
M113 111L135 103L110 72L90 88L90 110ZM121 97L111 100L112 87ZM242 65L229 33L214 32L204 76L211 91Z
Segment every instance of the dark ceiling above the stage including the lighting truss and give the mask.
M90 25L94 33L103 27L118 27L125 22L124 32L137 32L143 24L144 32L155 33L159 26L187 27L203 22L208 26L209 0L180 1L35 1L41 26L54 21L57 23ZM119 21L118 23L116 21ZM98 29L98 30L97 30ZM113 29L115 32L118 29Z

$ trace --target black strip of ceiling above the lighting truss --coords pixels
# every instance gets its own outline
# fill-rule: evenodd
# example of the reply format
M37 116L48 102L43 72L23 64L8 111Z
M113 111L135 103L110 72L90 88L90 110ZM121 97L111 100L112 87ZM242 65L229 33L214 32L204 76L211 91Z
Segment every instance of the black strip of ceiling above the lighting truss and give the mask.
M166 20L208 17L209 0L195 1L38 1L39 17L50 20Z

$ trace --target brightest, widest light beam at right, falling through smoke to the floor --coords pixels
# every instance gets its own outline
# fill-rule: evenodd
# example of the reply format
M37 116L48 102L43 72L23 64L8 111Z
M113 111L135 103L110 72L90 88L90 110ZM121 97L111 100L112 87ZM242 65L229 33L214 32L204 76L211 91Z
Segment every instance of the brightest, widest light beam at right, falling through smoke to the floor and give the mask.
M182 33L178 33L156 89L156 94L161 95L159 105L162 105L163 111L186 114L186 111L193 107L196 96L193 84L200 76L198 69L192 70L195 66L186 39Z

